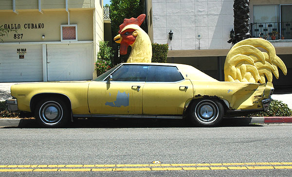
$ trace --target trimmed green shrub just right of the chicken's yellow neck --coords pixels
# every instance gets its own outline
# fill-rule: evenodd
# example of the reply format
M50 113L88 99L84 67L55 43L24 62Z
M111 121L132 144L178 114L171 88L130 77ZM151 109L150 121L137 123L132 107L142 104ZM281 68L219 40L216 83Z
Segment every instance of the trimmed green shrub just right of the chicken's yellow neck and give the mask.
M166 63L168 53L168 44L152 43L152 62Z

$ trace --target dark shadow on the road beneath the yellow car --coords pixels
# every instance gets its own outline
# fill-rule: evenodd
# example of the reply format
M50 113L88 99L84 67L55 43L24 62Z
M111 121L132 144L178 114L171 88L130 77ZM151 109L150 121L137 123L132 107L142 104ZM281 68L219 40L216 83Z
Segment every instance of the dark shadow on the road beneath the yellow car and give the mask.
M248 118L224 118L219 127L259 127L262 125L250 124ZM176 119L111 119L111 118L78 118L69 123L67 129L75 128L192 128L196 127L187 120ZM35 119L21 119L18 127L7 128L40 128Z

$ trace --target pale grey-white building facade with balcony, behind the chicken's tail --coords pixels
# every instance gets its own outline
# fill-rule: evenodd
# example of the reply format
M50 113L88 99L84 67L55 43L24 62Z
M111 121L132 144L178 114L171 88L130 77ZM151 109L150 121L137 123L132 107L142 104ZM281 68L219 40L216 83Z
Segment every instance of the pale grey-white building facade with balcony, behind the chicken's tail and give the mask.
M148 0L150 39L169 45L167 62L190 64L224 80L223 66L232 47L227 41L234 28L233 3L234 0ZM250 33L264 37L278 32L276 40L267 40L286 64L288 76L281 76L280 72L279 80L273 79L276 86L292 85L291 10L291 0L250 0Z

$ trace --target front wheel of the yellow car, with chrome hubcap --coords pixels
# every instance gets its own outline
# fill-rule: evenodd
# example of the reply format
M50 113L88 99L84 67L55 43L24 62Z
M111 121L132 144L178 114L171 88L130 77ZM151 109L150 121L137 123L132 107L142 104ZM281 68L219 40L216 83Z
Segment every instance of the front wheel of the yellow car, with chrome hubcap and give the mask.
M70 107L58 97L44 98L37 102L35 117L44 128L59 128L68 122Z

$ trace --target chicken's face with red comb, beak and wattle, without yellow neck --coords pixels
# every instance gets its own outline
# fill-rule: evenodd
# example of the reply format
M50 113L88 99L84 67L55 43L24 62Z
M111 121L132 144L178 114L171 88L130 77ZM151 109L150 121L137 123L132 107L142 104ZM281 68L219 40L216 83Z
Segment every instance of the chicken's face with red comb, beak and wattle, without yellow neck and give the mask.
M120 25L119 34L114 37L116 43L120 43L120 54L127 54L128 46L134 44L139 32L141 32L140 25L143 23L146 15L142 14L137 18L124 19L124 23Z

